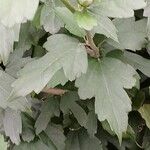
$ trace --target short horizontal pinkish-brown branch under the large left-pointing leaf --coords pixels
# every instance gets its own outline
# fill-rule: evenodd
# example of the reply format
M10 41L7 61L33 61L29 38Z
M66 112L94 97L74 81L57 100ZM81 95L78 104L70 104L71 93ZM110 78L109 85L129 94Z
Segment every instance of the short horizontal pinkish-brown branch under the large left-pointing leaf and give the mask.
M68 90L58 89L58 88L44 88L42 92L52 95L64 95Z

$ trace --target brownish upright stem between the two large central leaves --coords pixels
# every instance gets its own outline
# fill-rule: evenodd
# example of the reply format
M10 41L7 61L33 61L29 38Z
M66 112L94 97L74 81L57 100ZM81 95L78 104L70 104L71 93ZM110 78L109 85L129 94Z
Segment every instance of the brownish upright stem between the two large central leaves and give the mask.
M100 57L99 49L95 45L90 31L86 30L86 38L87 38L87 42L90 45L91 49L94 51L94 57L99 58Z

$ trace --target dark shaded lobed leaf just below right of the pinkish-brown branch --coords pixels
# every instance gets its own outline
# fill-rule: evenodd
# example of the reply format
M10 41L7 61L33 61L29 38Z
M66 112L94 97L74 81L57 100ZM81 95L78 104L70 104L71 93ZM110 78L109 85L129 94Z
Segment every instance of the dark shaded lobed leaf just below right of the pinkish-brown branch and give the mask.
M60 102L60 109L64 114L71 111L81 126L86 126L87 114L84 109L76 102L79 100L79 96L76 92L66 93Z

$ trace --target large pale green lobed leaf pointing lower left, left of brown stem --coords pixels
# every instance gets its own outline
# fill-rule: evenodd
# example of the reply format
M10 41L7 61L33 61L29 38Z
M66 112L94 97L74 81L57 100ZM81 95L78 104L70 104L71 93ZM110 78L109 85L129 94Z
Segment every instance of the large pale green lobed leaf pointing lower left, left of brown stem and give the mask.
M20 78L12 85L15 95L25 96L32 91L39 93L61 68L70 81L86 73L86 49L77 39L56 34L48 38L44 47L49 52L44 57L28 63L19 72Z

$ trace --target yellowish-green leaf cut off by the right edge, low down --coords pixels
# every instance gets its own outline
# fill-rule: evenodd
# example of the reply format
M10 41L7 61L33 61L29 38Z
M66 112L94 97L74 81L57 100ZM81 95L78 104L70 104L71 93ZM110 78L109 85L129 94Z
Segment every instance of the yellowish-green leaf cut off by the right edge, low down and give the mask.
M150 129L150 105L144 104L138 111L145 120L147 127Z

